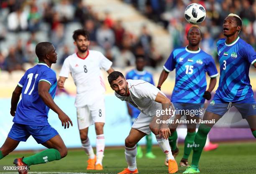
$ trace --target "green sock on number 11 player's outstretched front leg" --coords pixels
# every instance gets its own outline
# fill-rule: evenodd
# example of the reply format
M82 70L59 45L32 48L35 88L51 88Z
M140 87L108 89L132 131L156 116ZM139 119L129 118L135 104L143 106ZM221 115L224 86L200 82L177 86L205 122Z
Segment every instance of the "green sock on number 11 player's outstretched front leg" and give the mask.
M60 160L60 159L61 159L61 156L59 151L54 148L49 148L39 152L38 154L28 156L24 158L22 161L26 163L28 166L30 166L34 164L42 164L42 163L47 163L50 161Z

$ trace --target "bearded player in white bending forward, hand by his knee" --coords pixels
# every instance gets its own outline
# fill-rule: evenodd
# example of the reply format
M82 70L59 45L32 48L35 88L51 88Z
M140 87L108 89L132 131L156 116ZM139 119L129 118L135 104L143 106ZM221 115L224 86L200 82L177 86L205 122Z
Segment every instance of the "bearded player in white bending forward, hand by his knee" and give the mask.
M157 124L157 119L166 120L169 115L156 117L158 110L170 108L171 101L154 85L144 80L126 80L122 73L112 72L108 76L110 87L115 91L116 97L122 101L127 101L134 107L137 107L141 113L134 121L128 137L125 139L125 159L128 168L119 174L136 174L136 154L138 141L151 131L156 135L157 143L161 150L166 154L169 163L169 173L178 171L178 165L172 156L168 137L170 130L167 124ZM173 106L172 106L173 108Z

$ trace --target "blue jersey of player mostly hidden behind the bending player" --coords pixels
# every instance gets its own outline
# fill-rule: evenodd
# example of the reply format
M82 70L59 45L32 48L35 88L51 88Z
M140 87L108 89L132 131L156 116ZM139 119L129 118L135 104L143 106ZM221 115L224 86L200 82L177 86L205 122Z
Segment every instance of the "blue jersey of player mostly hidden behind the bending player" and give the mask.
M148 83L151 83L153 85L154 84L154 80L153 80L153 75L147 71L137 71L136 69L133 69L131 71L129 71L127 74L126 74L126 77L125 79L132 79L132 80L144 80ZM136 107L134 107L133 105L131 105L130 103L128 103L128 105L131 107L132 109L132 113L133 115L131 115L133 118L137 118L139 113L141 112L140 110L138 110Z

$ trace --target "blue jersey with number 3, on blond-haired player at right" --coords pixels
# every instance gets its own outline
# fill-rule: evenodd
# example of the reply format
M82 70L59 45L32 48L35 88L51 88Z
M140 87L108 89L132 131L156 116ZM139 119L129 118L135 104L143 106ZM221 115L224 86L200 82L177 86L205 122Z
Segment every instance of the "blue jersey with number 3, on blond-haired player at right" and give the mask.
M243 39L237 38L232 44L225 39L217 42L220 62L218 95L225 102L236 102L253 96L249 79L249 68L256 62L256 52Z

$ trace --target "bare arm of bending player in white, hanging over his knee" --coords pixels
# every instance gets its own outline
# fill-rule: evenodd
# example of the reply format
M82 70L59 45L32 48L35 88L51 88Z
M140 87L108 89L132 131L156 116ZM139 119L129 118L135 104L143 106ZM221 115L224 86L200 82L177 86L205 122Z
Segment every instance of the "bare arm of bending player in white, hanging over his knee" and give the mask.
M155 101L162 104L162 109L163 110L166 110L166 109L168 110L170 108L170 106L172 105L169 98L162 95L161 92L158 92L158 94L156 95ZM169 115L165 114L165 115L162 116L162 120L168 120L168 118L169 118ZM170 129L168 128L168 125L166 123L161 124L160 130L159 130L159 135L160 136L162 135L166 140L171 135Z

